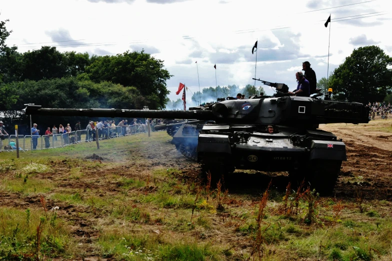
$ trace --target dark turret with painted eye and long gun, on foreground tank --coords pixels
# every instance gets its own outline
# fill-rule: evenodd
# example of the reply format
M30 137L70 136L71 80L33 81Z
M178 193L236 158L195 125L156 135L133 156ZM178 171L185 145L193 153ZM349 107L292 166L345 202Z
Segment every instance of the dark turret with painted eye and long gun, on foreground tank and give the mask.
M367 123L368 111L360 103L283 96L225 100L204 110L164 111L126 109L54 109L29 105L28 115L214 120L217 123L255 125L314 125L321 123Z

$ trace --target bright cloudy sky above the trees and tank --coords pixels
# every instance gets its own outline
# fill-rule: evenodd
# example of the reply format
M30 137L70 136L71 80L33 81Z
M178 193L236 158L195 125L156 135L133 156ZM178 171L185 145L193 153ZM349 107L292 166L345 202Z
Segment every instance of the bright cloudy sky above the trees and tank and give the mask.
M174 75L167 88L176 99L179 82L198 90L196 61L201 88L215 86L215 63L217 85L254 84L256 40L256 78L294 89L304 61L317 79L326 77L329 14L329 71L360 46L392 55L391 9L390 0L4 0L0 20L9 19L7 44L20 52L42 45L90 55L144 49Z

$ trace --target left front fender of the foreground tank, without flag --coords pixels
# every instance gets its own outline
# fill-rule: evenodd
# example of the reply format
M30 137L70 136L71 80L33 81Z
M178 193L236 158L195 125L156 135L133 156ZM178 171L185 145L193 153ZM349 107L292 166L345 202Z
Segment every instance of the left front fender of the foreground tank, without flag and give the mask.
M227 135L199 134L196 151L231 154L229 137Z

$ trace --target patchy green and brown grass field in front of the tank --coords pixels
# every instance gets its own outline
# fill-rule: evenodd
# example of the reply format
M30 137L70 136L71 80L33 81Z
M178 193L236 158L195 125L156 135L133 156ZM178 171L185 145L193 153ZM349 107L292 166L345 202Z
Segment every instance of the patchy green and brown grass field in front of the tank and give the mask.
M0 153L0 260L392 260L391 197L360 185L319 197L286 189L285 173L210 185L169 138ZM352 175L338 188L373 185L355 164L343 165Z

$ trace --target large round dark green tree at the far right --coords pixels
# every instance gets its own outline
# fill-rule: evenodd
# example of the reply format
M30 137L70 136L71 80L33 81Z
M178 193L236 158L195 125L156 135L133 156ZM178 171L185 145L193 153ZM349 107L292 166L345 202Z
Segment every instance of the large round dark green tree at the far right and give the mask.
M354 49L330 77L329 86L337 99L350 102L381 101L390 93L392 58L377 46Z

